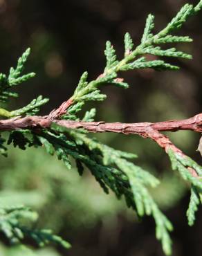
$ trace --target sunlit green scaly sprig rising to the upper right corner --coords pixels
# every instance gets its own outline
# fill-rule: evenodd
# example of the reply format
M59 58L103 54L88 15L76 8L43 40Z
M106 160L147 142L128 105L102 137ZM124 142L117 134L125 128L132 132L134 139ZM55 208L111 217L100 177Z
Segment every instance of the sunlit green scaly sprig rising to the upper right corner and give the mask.
M129 69L136 68L153 68L155 70L174 71L178 70L178 66L166 63L163 60L151 62L147 60L147 58L143 59L141 55L152 54L157 57L181 57L183 59L191 59L192 55L190 54L177 51L176 48L168 48L167 50L161 49L160 46L156 46L156 44L192 42L190 37L171 35L171 33L181 28L187 19L196 14L196 12L199 12L199 10L201 10L201 1L195 7L190 4L185 4L185 6L183 6L183 8L181 8L181 10L178 12L176 17L174 17L172 21L170 21L169 24L163 28L163 30L156 33L156 35L152 33L154 30L154 15L148 15L143 37L139 46L134 48L134 42L131 39L131 36L129 33L125 34L125 57L122 60L117 60L114 47L112 46L111 42L107 41L106 49L104 51L107 64L104 68L104 72L96 80L89 83L86 82L87 73L84 73L71 100L73 100L73 102L86 101L87 98L89 100L104 100L106 97L100 94L100 91L98 91L98 86L103 84L114 84L116 86L127 88L127 84L121 84L123 82L122 79L118 78L119 82L115 82L119 71L127 71ZM138 56L140 57L138 60L136 60ZM84 82L82 82L83 79Z

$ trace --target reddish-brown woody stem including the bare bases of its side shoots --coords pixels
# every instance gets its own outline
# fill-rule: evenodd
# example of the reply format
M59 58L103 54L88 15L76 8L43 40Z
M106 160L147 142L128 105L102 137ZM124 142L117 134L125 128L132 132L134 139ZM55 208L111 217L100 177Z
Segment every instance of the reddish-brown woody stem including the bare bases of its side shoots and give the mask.
M82 122L70 120L58 120L59 116L66 113L66 109L71 102L64 102L58 109L50 112L48 116L28 116L25 118L11 118L0 120L0 131L13 131L17 129L43 129L50 128L53 123L69 129L83 128L90 132L116 132L122 134L137 134L143 138L151 138L167 153L169 149L186 157L164 134L160 131L180 131L190 130L202 133L202 113L185 120L170 120L165 122L138 122L138 123L120 123L120 122ZM199 177L199 174L188 167L187 170L192 176Z

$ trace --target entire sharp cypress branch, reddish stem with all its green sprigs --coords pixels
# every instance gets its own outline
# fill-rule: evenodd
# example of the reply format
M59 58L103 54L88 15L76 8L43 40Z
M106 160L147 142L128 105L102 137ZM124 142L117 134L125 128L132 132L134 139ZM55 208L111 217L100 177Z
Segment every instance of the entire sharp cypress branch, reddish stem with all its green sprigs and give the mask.
M172 224L160 212L158 205L156 205L147 190L147 185L152 187L158 185L158 179L130 161L136 155L112 149L98 142L95 138L89 138L84 129L94 133L137 134L143 138L154 140L162 147L169 156L172 170L179 172L182 178L192 186L190 205L187 210L187 218L190 225L192 225L195 220L195 212L202 199L202 167L194 162L192 158L183 154L167 136L161 134L161 131L191 130L202 133L202 113L185 120L129 124L90 122L93 121L95 116L95 109L86 111L83 120L79 121L77 112L82 109L85 102L101 101L107 97L100 91L100 86L104 84L128 88L129 84L118 76L120 71L135 70L137 68L178 70L178 66L166 63L164 60L160 60L159 57L191 59L192 55L178 51L176 48L165 48L165 46L161 48L161 45L192 42L190 37L173 35L172 32L181 28L185 21L201 8L202 0L196 6L185 4L176 17L156 35L153 33L154 15L148 15L143 37L138 46L134 48L131 36L126 33L125 54L121 60L118 60L111 42L107 42L104 51L107 63L102 74L97 79L89 82L88 73L84 72L71 98L63 102L57 109L51 111L48 116L33 116L36 115L39 107L48 101L47 99L42 99L42 96L30 102L26 107L15 111L0 109L0 116L10 118L0 120L0 133L1 131L10 131L8 144L13 143L15 147L18 146L21 149L26 149L26 147L30 146L44 146L48 154L56 154L58 159L62 159L68 169L71 168L71 161L69 161L68 156L71 156L75 159L77 170L81 175L84 171L84 166L88 167L105 192L109 192L110 188L118 198L125 196L128 207L136 210L139 216L147 214L154 217L156 221L156 237L161 240L163 250L167 255L171 254L172 241L169 237L169 231L172 231ZM29 53L30 49L28 48L19 58L17 67L10 68L9 75L0 74L0 102L6 102L9 97L16 97L16 93L10 92L10 87L20 84L35 75L34 73L21 74ZM149 60L147 54L156 56L156 60ZM26 117L22 118L21 115L23 114ZM0 136L0 153L4 156L6 155L5 144L6 139ZM18 215L19 212L17 212ZM15 218L14 222L18 223L18 219ZM8 221L0 226L2 231L2 227L6 227L6 233L9 233L9 237L12 237L13 227L8 226ZM21 230L16 224L14 228L17 228L14 231L19 239L23 237L24 233L27 233L27 229ZM28 232L30 231L28 230ZM38 232L37 230L31 230L31 232L31 236L37 238L37 240L39 240L38 237L42 238L40 239L42 241L39 241L40 243L46 244L47 241L54 240L69 247L69 244L59 237L50 236L49 232Z

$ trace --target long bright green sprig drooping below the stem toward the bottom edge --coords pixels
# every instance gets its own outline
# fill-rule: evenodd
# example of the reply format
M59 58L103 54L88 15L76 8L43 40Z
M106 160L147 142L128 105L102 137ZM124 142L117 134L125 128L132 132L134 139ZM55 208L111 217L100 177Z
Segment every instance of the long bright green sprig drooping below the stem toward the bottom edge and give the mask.
M68 136L75 139L78 145L87 147L87 149L91 151L91 155L96 154L93 161L98 161L98 154L102 156L99 161L101 161L102 165L106 166L106 170L108 170L107 180L101 173L98 174L100 165L98 166L98 164L94 163L92 168L91 163L89 165L84 159L79 158L77 160L79 160L79 163L84 163L86 166L89 165L92 174L98 179L98 182L100 182L100 185L105 192L108 192L106 185L109 185L109 180L111 183L112 181L116 182L116 180L114 180L115 177L116 179L118 178L119 183L125 183L125 187L128 188L127 190L122 190L119 186L117 187L118 184L116 183L112 187L110 183L109 188L116 193L118 198L123 194L127 205L134 208L140 217L144 214L152 215L154 217L156 221L156 237L162 241L165 253L170 254L172 241L169 237L169 231L172 231L172 223L170 223L165 215L159 210L158 205L156 205L146 187L146 185L156 187L159 181L152 176L152 174L149 174L149 172L146 172L141 167L138 167L127 160L136 158L136 155L117 151L107 145L103 145L98 140L91 139L87 137L86 134L78 133L77 131L68 130L56 125L54 125L53 128L62 133L66 132ZM116 169L111 169L110 166L115 166ZM80 169L78 171L80 172ZM103 167L102 172L104 172ZM111 172L111 176L109 176L109 172ZM106 175L106 172L104 172L104 174ZM104 185L103 182L106 185Z

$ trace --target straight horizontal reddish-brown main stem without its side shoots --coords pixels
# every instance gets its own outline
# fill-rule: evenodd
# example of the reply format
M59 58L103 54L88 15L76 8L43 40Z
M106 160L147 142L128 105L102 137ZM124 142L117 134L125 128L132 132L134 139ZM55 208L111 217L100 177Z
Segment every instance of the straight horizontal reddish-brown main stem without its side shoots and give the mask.
M62 108L57 113L61 113ZM169 120L165 122L137 122L137 123L121 123L121 122L82 122L70 120L57 120L53 118L56 111L52 111L52 117L49 116L27 116L25 118L11 118L0 120L0 131L12 131L17 129L33 129L48 128L53 122L68 129L83 128L90 132L116 132L121 134L137 134L139 136L148 137L149 129L153 131L180 131L190 130L202 133L202 113L192 118L184 120Z

